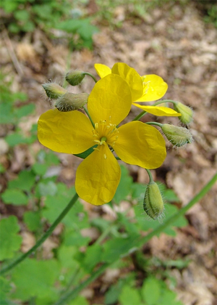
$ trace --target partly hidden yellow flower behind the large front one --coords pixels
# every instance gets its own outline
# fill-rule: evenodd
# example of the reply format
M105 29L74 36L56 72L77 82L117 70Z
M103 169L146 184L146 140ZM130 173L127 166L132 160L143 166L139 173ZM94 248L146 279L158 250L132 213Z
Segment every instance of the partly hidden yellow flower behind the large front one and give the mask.
M139 101L157 100L166 93L168 85L158 75L149 74L140 76L134 68L131 68L124 62L115 63L110 69L107 65L95 63L97 74L103 78L110 73L118 74L128 83L131 94L132 104L146 112L157 116L180 116L175 110L164 106L144 106L137 104Z

